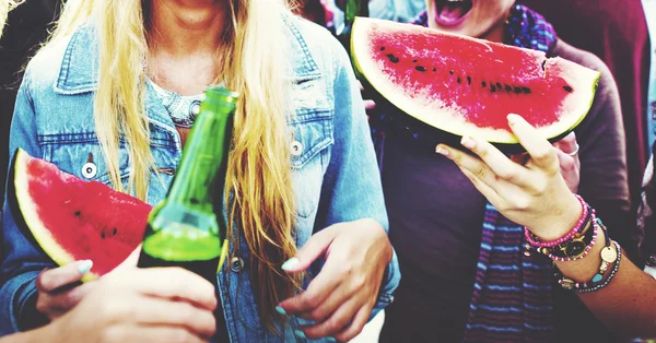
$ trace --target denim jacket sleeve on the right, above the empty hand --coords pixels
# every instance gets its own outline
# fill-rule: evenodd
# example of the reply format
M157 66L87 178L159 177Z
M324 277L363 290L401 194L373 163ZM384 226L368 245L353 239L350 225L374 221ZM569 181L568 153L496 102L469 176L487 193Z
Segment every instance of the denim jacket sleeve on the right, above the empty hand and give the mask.
M336 44L333 54L337 55L333 83L335 144L324 177L315 229L340 222L373 218L388 230L380 174L362 96L344 49ZM391 303L399 281L400 271L394 252L372 316Z

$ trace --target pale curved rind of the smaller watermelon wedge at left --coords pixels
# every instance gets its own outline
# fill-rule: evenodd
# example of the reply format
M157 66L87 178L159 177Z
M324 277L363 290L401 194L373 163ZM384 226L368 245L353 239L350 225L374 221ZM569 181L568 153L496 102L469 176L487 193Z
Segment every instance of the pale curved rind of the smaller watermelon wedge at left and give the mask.
M28 236L32 236L37 246L40 247L56 264L62 267L74 262L75 259L57 244L57 240L50 230L48 230L44 223L39 221L36 202L30 194L31 174L27 168L32 159L33 157L24 150L16 150L10 172L10 185L13 188L9 190L9 194L13 194L13 199L10 201L10 208L13 209L12 214L16 223L19 223L19 226L22 226L23 228L26 227L31 233ZM58 173L61 172L58 170ZM82 282L93 281L98 277L99 275L96 273L89 272L82 276Z

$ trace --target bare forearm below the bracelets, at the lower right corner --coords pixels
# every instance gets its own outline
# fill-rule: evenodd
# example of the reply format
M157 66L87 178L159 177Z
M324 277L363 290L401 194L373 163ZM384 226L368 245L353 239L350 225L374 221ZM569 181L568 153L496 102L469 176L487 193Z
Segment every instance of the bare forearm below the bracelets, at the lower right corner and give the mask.
M566 277L588 282L599 270L600 251L605 246L606 238L599 234L593 250L585 258L555 264ZM605 277L608 277L613 267L609 267ZM656 280L635 267L625 256L622 256L619 269L608 286L596 292L578 293L578 296L617 335L656 336Z

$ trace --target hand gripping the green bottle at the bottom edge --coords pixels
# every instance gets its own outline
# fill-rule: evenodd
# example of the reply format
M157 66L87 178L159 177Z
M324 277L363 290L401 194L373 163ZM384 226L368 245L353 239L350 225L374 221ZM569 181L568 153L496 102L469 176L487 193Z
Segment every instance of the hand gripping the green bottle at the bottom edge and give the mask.
M49 326L54 341L207 342L214 334L214 286L189 271L131 269L94 283L89 296Z

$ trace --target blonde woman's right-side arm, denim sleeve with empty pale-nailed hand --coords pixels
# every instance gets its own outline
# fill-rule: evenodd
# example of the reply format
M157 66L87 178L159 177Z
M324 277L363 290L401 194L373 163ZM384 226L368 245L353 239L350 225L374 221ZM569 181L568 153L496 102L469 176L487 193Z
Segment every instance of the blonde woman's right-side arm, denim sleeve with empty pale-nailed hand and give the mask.
M362 96L348 55L336 39L330 43L331 66L326 69L333 75L333 144L315 234L300 249L297 263L285 270L305 270L321 258L326 262L304 293L280 306L316 322L303 329L307 338L349 341L389 304L400 273L387 238L387 212Z

